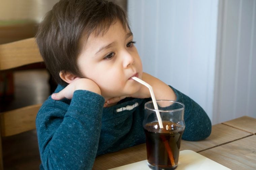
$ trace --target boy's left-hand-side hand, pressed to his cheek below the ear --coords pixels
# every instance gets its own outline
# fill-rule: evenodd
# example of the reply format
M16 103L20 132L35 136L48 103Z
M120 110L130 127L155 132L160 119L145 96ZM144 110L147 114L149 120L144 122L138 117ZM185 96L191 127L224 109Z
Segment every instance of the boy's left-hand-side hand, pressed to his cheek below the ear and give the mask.
M75 90L88 90L101 95L99 86L90 79L79 78L67 85L63 90L58 93L52 94L52 99L61 100L63 98L71 99Z

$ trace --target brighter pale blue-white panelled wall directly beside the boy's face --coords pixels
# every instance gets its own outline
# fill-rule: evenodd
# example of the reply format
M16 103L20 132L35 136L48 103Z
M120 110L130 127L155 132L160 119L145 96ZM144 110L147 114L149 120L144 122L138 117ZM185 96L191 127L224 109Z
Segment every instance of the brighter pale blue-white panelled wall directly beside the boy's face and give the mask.
M128 0L143 70L213 118L218 0Z

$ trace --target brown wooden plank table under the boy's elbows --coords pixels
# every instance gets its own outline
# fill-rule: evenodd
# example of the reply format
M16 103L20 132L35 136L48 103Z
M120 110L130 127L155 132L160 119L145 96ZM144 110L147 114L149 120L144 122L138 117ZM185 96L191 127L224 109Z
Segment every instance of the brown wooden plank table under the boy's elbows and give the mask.
M232 170L256 169L256 119L241 117L212 127L201 141L182 140L182 150L195 151ZM98 156L93 169L105 170L147 159L146 144Z

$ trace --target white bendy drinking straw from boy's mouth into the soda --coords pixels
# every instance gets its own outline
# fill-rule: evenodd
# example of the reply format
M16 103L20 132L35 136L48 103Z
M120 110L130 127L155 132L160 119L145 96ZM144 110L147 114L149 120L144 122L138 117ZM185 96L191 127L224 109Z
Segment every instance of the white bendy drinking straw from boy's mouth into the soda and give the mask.
M146 83L145 81L137 78L137 77L132 77L132 79L149 88L149 92L150 92L150 95L151 95L151 98L152 98L152 101L153 101L153 104L154 104L154 108L155 108L155 110L158 110L157 103L156 103L156 98L155 98L155 94L154 94L152 86L149 85L148 83ZM161 129L164 128L163 123L162 123L162 119L160 117L160 113L158 111L156 111L156 116L157 116L159 127Z

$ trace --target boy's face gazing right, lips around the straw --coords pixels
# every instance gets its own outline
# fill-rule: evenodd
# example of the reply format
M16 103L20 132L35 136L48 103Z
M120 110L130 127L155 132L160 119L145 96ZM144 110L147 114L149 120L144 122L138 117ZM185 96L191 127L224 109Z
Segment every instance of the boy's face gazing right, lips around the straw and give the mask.
M111 25L103 36L92 33L82 44L77 62L81 74L99 86L103 97L130 95L141 87L131 79L141 79L141 60L132 33L120 22Z

